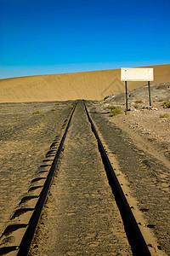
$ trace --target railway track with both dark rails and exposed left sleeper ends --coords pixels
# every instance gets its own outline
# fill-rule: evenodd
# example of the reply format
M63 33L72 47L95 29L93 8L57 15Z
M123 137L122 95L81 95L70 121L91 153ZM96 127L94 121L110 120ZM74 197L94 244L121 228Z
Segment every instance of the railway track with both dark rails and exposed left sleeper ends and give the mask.
M82 102L78 103L82 104ZM94 132L94 136L96 137L99 153L101 155L103 164L105 166L105 172L108 177L109 183L111 185L112 192L116 199L116 205L119 208L122 216L122 222L124 224L124 228L127 234L127 240L130 244L133 255L150 255L150 250L144 241L144 237L139 230L139 226L133 216L133 212L127 203L127 199L123 194L122 188L118 182L116 174L111 166L111 162L105 152L105 148L103 147L99 135L94 127L94 123L90 118L88 113L88 109L86 107L85 102L83 102L88 121L91 124L92 131ZM69 131L69 127L71 125L71 119L73 114L75 113L75 108L72 110L71 117L68 121L68 124L65 128L65 133L63 137L60 139L59 146L57 145L58 139L55 138L54 143L52 143L50 150L47 153L47 159L44 160L44 164L42 165L42 171L40 172L40 177L36 177L32 180L32 186L29 189L30 195L27 195L20 201L20 208L14 212L14 216L11 218L13 221L15 218L21 218L20 224L11 224L8 225L7 229L4 230L3 235L1 237L2 240L8 240L10 238L11 233L16 233L16 242L20 241L20 243L13 244L8 247L0 247L0 255L12 253L10 255L27 255L29 249L31 247L31 241L34 237L35 231L37 229L37 224L39 218L41 218L42 208L46 201L48 190L52 183L54 172L56 170L56 166L58 164L59 155L63 150L63 145L65 143L65 137L67 135L67 131ZM47 173L47 169L49 168L48 175L44 176ZM36 184L36 185L35 185ZM36 191L36 193L34 193ZM39 194L38 194L39 192ZM24 207L26 202L35 201L32 207ZM29 218L29 222L26 223L26 220L23 216L27 214L27 218ZM22 218L25 220L22 222ZM22 232L20 232L22 230ZM17 240L17 237L19 239ZM21 239L20 239L21 237ZM57 255L57 254L56 254Z

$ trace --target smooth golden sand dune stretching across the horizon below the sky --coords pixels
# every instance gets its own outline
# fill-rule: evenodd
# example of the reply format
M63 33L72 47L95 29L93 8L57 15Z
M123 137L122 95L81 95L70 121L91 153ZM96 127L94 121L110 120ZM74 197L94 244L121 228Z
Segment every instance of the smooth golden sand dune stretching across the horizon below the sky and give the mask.
M170 64L154 67L154 83L170 82ZM124 91L120 69L41 75L0 80L0 102L43 102L75 99L102 100ZM133 90L145 82L128 82Z

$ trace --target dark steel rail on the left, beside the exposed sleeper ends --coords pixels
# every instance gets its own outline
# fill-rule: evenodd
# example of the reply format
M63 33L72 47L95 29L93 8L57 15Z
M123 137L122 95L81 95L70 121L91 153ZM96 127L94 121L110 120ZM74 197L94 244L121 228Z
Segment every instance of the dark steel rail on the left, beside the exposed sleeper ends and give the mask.
M26 229L25 235L23 236L22 241L20 242L19 251L17 253L18 256L27 255L27 253L29 252L29 249L31 247L31 241L32 241L34 233L36 231L38 220L41 216L42 207L44 205L44 202L46 201L46 197L48 195L48 189L49 189L50 184L52 182L52 179L54 177L54 171L55 171L55 168L57 166L57 162L59 160L59 155L60 155L61 150L63 148L63 144L65 142L65 137L66 137L67 131L69 129L69 126L71 125L71 119L72 119L72 116L73 116L73 113L74 113L76 107L77 107L77 105L72 110L71 117L70 117L69 122L66 126L65 133L64 133L64 135L63 135L63 137L62 137L62 139L59 143L58 151L55 154L54 161L53 161L52 166L51 166L51 168L48 172L48 177L47 177L47 179L44 183L44 186L42 188L42 192L41 192L41 194L39 196L39 199L37 201L37 205L35 207L34 212L31 215L31 219L29 221L29 224L28 224L28 227Z

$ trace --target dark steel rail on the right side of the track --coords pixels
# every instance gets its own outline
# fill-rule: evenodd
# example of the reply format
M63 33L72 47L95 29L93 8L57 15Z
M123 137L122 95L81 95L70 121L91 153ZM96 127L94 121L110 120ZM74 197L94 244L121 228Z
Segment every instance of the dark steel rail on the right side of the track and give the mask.
M129 241L129 244L132 248L133 255L137 256L149 256L150 250L146 245L146 242L144 241L144 237L139 230L139 226L136 222L136 219L133 216L133 212L131 211L131 208L128 205L127 199L122 191L121 185L116 177L116 173L114 172L111 162L105 152L105 148L103 144L101 143L99 139L99 135L95 129L94 123L92 119L90 118L90 115L88 113L88 109L86 107L85 102L84 108L86 110L86 113L88 115L88 120L91 124L92 131L94 132L94 136L97 139L99 152L101 154L104 166L105 166L105 172L107 174L107 177L109 179L109 183L111 185L111 189L113 191L113 194L115 195L116 204L119 208L119 211L122 215L122 221L124 224L125 231L127 233L127 239Z

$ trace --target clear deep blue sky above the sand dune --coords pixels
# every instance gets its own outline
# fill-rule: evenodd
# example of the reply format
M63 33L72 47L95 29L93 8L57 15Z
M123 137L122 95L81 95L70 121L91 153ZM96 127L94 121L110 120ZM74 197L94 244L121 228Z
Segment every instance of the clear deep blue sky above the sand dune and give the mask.
M0 0L0 79L170 63L170 0Z

